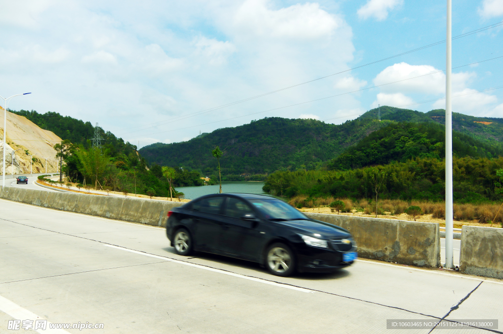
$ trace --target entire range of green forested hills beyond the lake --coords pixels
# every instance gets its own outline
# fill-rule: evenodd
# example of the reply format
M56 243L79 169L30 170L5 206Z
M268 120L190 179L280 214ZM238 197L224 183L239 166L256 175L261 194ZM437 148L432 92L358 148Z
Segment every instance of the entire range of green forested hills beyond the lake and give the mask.
M215 175L216 161L210 151L218 145L225 151L221 161L224 177L243 173L269 174L276 170L315 170L327 163L331 168L347 169L392 160L404 161L415 156L443 157L445 132L441 124L445 121L445 117L442 118L444 110L421 113L388 106L380 109L381 122L377 121L377 108L341 125L315 120L265 118L235 128L218 129L187 142L152 144L143 147L140 153L150 163L183 166ZM503 122L497 120L501 119L455 113L455 154L488 158L501 154ZM416 125L398 126L398 123ZM415 131L412 128L417 128L417 133L412 133ZM401 137L407 140L397 149L396 142ZM354 148L345 151L352 146ZM341 157L344 162L334 160L343 152L346 152Z

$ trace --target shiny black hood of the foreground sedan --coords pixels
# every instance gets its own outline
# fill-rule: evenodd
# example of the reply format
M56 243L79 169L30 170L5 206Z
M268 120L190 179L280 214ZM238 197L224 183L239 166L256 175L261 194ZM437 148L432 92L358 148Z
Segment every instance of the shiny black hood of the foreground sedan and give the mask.
M330 240L351 237L351 233L339 226L314 219L294 219L278 221L278 223L294 228L296 233L319 239ZM320 236L315 236L315 234L319 234Z

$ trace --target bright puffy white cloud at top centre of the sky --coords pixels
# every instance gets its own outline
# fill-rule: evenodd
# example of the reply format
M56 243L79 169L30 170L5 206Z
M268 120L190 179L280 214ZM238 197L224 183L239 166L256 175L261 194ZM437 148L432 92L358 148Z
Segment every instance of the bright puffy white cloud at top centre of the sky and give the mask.
M245 1L234 16L234 26L240 34L291 39L327 37L339 26L318 4L297 4L276 11L270 7L267 0Z

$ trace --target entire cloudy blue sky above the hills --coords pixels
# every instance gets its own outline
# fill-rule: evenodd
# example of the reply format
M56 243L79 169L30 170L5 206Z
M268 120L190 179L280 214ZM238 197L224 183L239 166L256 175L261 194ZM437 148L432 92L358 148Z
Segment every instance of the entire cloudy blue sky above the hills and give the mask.
M351 70L444 40L442 1L0 4L1 94L32 92L9 107L98 122L140 147L266 116L338 124L378 103L422 112L445 105L415 104L444 97L445 75L434 72L445 69L445 44ZM501 21L503 0L453 1L453 36ZM481 90L503 85L503 58L478 63L503 56L502 29L453 41L453 67L477 63L453 70L455 112L502 117L503 89Z

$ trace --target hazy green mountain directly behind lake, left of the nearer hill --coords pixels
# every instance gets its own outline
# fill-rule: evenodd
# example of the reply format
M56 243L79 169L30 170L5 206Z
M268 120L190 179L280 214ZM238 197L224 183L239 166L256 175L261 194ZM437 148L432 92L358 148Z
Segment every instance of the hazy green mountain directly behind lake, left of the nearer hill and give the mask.
M276 170L317 169L345 148L391 121L358 119L342 125L279 117L213 131L187 142L156 143L139 150L149 162L216 173L211 150L219 146L223 175L266 174Z

